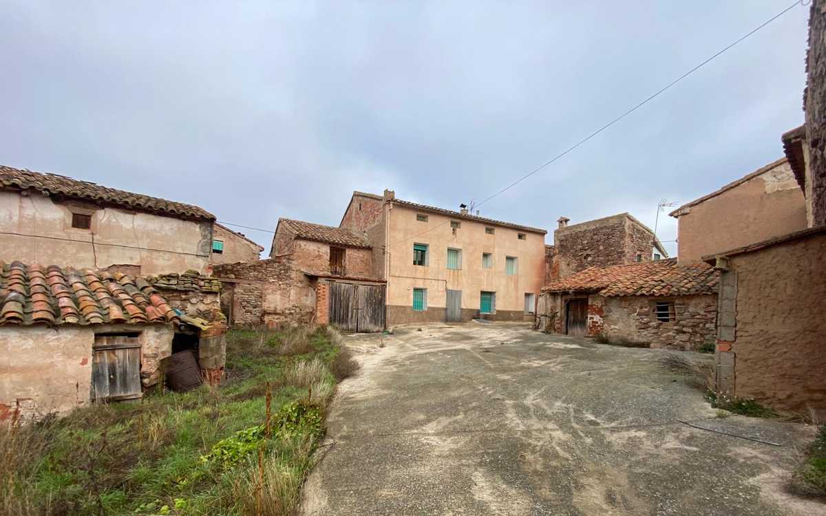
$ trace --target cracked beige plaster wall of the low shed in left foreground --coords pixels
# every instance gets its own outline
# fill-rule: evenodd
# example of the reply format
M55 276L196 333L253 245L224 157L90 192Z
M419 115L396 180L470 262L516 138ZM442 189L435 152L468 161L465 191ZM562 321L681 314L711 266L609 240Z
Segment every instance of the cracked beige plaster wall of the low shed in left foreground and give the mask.
M0 328L0 419L40 419L65 414L90 400L95 334L140 331L140 379L160 379L172 353L173 329L165 324L3 326Z

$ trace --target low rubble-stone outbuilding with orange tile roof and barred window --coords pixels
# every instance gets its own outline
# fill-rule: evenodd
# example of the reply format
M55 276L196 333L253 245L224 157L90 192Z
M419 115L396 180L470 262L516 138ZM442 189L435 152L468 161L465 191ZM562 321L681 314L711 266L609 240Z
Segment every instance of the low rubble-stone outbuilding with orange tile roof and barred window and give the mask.
M588 267L544 286L539 329L682 350L713 348L719 274L676 258Z

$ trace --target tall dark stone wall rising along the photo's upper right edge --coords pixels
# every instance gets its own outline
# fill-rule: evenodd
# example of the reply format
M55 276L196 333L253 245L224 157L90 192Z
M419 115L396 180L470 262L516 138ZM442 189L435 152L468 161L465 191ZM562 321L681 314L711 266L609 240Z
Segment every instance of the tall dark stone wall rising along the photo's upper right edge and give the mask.
M812 178L814 225L826 224L826 0L814 0L809 11L806 58L806 140Z

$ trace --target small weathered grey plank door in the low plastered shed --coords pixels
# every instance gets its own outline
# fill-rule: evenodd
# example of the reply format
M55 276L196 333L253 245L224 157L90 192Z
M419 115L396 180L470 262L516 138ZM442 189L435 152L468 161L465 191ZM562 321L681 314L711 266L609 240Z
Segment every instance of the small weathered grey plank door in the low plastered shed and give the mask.
M142 395L138 338L96 335L92 358L92 399L131 400Z

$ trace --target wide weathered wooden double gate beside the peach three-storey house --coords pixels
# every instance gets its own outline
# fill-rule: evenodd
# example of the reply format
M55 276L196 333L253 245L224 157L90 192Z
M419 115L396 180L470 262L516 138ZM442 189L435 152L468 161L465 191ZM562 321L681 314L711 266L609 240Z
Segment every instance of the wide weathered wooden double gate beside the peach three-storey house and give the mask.
M384 329L384 286L330 282L330 324L342 331Z

